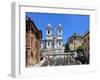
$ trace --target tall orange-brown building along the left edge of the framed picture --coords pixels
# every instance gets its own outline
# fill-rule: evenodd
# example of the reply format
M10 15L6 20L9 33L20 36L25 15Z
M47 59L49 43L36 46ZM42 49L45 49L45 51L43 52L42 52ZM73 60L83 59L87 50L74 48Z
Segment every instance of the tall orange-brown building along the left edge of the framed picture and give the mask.
M26 67L40 62L40 44L42 32L34 22L26 17Z

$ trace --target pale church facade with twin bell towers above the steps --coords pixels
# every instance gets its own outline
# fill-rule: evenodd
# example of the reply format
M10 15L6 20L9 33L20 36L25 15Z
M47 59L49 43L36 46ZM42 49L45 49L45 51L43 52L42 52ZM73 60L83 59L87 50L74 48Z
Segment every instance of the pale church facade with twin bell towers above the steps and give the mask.
M41 41L41 49L49 52L63 52L63 38L62 38L62 25L59 24L57 27L48 24L46 26L46 38Z

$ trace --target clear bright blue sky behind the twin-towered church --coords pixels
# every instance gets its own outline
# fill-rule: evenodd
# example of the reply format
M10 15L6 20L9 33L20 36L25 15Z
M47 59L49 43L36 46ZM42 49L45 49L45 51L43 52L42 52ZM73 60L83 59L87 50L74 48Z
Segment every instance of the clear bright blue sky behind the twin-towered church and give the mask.
M73 33L82 35L89 30L90 26L89 15L26 12L26 16L33 20L38 29L42 30L42 39L46 38L46 26L48 23L51 24L53 29L58 24L61 24L63 43L66 43Z

